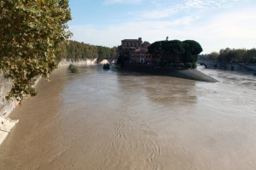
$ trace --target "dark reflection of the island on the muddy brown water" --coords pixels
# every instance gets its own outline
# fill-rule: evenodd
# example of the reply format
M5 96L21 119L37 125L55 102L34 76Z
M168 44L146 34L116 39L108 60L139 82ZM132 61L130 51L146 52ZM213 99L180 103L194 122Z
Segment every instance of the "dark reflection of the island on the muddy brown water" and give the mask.
M118 82L125 94L140 94L137 97L161 105L190 105L196 102L196 95L191 93L194 91L195 81L125 72L119 74Z

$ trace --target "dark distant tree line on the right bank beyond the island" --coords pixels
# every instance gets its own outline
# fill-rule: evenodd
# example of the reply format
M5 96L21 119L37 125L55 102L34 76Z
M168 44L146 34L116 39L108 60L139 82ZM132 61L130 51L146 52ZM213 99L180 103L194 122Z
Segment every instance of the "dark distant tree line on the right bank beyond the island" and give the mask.
M220 49L219 53L203 54L200 59L218 60L219 62L256 63L256 48L252 49Z

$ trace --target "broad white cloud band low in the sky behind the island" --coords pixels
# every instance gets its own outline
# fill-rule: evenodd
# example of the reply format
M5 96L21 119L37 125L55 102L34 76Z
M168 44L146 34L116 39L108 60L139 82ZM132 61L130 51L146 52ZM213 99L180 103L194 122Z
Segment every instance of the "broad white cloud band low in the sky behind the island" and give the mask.
M176 20L137 20L108 26L103 30L95 26L72 26L72 39L96 45L113 47L125 38L143 37L143 41L194 39L201 43L203 53L220 48L255 48L255 8L236 9L208 16L190 14ZM206 17L206 18L204 18Z

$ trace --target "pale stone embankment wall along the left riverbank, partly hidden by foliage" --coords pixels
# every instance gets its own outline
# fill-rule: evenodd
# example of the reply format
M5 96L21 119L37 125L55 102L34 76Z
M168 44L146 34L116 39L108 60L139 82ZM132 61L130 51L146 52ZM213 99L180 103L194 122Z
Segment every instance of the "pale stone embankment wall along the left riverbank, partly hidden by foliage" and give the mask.
M62 60L59 64L61 66L73 65L96 65L96 59L86 59L79 61L67 61ZM39 80L39 77L38 77ZM38 81L37 81L38 82ZM36 82L36 83L37 83ZM14 111L15 107L19 105L15 99L8 101L5 99L5 96L9 93L9 90L12 88L12 81L3 77L3 72L0 71L0 144L3 143L3 140L7 137L9 132L15 124L19 122L18 120L11 120L8 118L9 114Z

